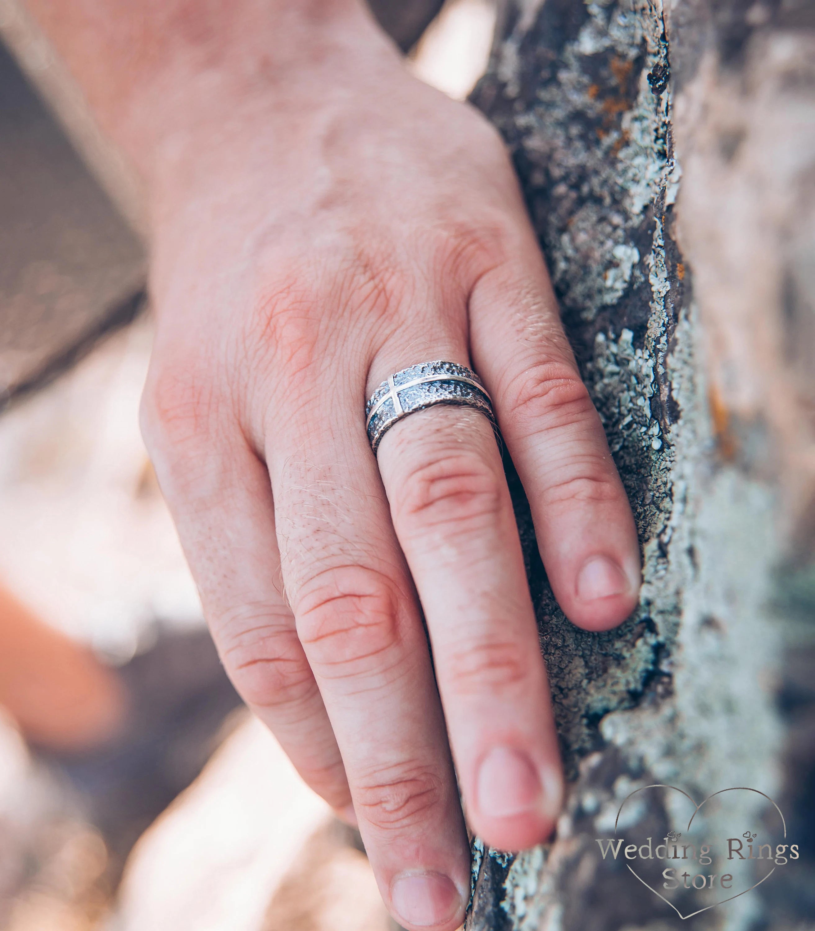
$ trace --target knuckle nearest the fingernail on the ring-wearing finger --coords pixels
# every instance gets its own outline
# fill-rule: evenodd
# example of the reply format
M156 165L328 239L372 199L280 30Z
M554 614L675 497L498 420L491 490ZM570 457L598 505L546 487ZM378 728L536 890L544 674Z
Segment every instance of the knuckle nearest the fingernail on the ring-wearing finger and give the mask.
M482 639L451 654L444 677L457 695L482 695L484 690L513 689L529 681L537 659L521 643Z

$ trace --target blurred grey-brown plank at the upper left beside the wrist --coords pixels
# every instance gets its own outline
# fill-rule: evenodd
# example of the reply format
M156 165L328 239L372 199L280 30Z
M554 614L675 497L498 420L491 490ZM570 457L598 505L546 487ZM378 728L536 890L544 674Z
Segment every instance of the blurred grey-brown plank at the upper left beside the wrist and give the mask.
M0 408L143 304L143 247L0 47Z

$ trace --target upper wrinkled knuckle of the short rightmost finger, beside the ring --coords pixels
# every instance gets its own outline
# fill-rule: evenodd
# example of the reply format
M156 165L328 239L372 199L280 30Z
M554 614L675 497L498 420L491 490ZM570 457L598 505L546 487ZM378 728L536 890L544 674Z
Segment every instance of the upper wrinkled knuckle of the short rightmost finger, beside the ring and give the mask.
M577 371L565 362L540 362L516 375L504 392L509 421L524 434L573 425L594 407Z

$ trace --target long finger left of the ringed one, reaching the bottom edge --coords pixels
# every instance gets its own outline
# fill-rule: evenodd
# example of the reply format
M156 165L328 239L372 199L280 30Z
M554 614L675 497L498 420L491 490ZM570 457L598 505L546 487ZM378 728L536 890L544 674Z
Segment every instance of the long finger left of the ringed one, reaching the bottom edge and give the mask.
M297 631L383 898L407 927L452 931L469 897L469 843L421 613L365 436L363 386L313 370L287 385L266 461Z

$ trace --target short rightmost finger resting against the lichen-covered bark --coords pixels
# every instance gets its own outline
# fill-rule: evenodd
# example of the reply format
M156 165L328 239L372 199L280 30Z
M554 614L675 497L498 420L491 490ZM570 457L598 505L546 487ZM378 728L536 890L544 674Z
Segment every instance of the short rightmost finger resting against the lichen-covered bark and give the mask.
M605 630L637 603L632 509L537 243L523 239L513 256L470 297L473 357L529 499L554 596L578 627Z

